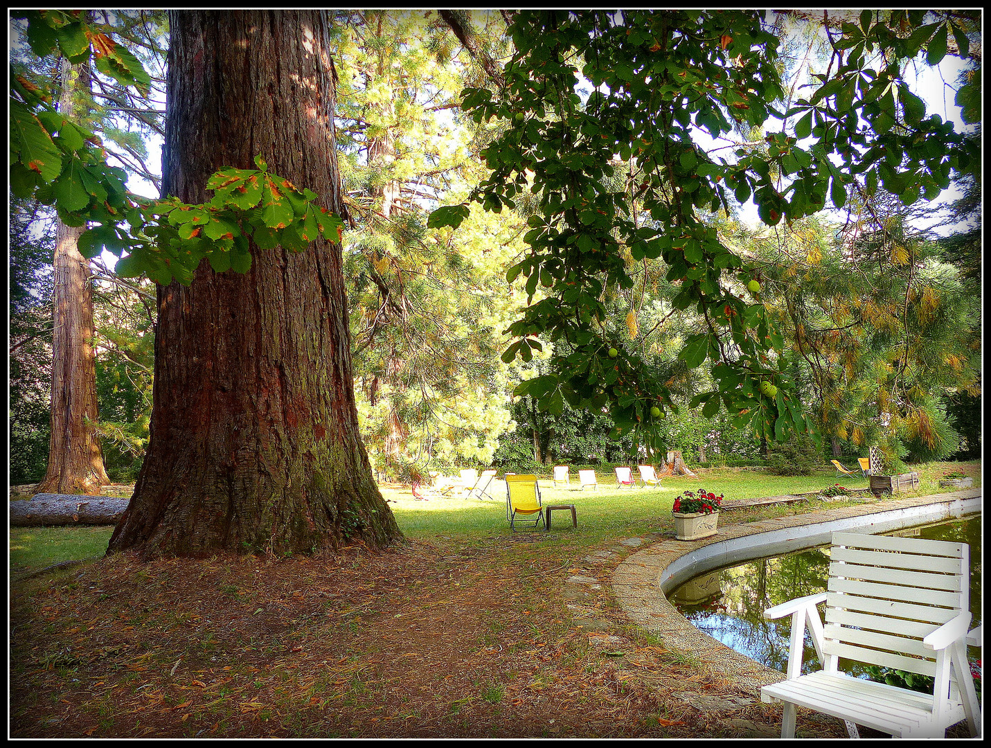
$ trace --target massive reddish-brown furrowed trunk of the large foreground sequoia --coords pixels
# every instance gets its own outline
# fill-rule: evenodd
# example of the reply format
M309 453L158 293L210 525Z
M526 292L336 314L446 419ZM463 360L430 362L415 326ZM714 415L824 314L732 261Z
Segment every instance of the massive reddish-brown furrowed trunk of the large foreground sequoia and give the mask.
M269 167L341 211L323 11L169 13L163 192ZM359 433L340 244L158 289L148 454L108 553L275 553L401 537Z

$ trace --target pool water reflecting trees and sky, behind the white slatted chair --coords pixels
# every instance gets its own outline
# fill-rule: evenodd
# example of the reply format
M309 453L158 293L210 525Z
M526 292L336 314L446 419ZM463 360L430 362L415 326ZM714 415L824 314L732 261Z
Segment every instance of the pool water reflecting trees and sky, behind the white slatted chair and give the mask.
M970 545L970 611L973 628L981 622L981 520L980 516L956 519L894 535L912 535ZM759 559L697 577L671 594L671 601L693 626L714 639L782 673L788 666L791 616L769 621L764 610L782 602L826 589L829 549L803 551L788 556ZM823 606L820 605L820 614ZM979 657L969 648L972 659ZM839 661L840 669L863 676L860 666ZM806 632L802 672L820 668L819 658Z

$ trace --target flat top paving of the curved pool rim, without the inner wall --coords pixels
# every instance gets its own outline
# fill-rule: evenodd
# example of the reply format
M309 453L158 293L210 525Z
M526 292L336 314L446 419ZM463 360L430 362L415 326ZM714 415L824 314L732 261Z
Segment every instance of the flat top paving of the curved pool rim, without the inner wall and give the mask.
M697 541L664 539L622 561L613 571L610 585L616 601L630 620L660 635L665 646L670 649L699 658L725 677L731 678L737 687L759 697L761 686L783 681L784 674L726 647L689 623L658 584L661 574L672 562L698 548L727 539L980 495L980 488L970 488L930 496L872 501L748 524L728 525L720 527L716 535ZM634 544L626 542L624 545Z

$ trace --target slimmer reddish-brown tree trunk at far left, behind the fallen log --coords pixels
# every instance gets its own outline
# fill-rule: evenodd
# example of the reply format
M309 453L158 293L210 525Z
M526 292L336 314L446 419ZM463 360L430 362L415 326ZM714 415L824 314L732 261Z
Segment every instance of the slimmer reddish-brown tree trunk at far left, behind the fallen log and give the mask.
M89 86L85 64L61 62L59 111L72 116L73 93ZM52 433L49 465L39 492L99 493L109 483L94 425L96 355L93 351L93 288L89 263L76 245L85 226L55 227L55 326L52 334Z

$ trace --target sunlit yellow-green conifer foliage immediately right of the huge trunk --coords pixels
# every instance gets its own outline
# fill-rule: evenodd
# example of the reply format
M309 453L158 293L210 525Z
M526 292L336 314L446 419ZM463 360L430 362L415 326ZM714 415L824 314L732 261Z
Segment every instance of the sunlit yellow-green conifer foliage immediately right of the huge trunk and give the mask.
M338 29L356 394L363 436L390 476L431 460L488 463L509 423L502 272L522 219L425 226L429 207L478 178L472 129L455 110L480 75L426 15L354 12Z

